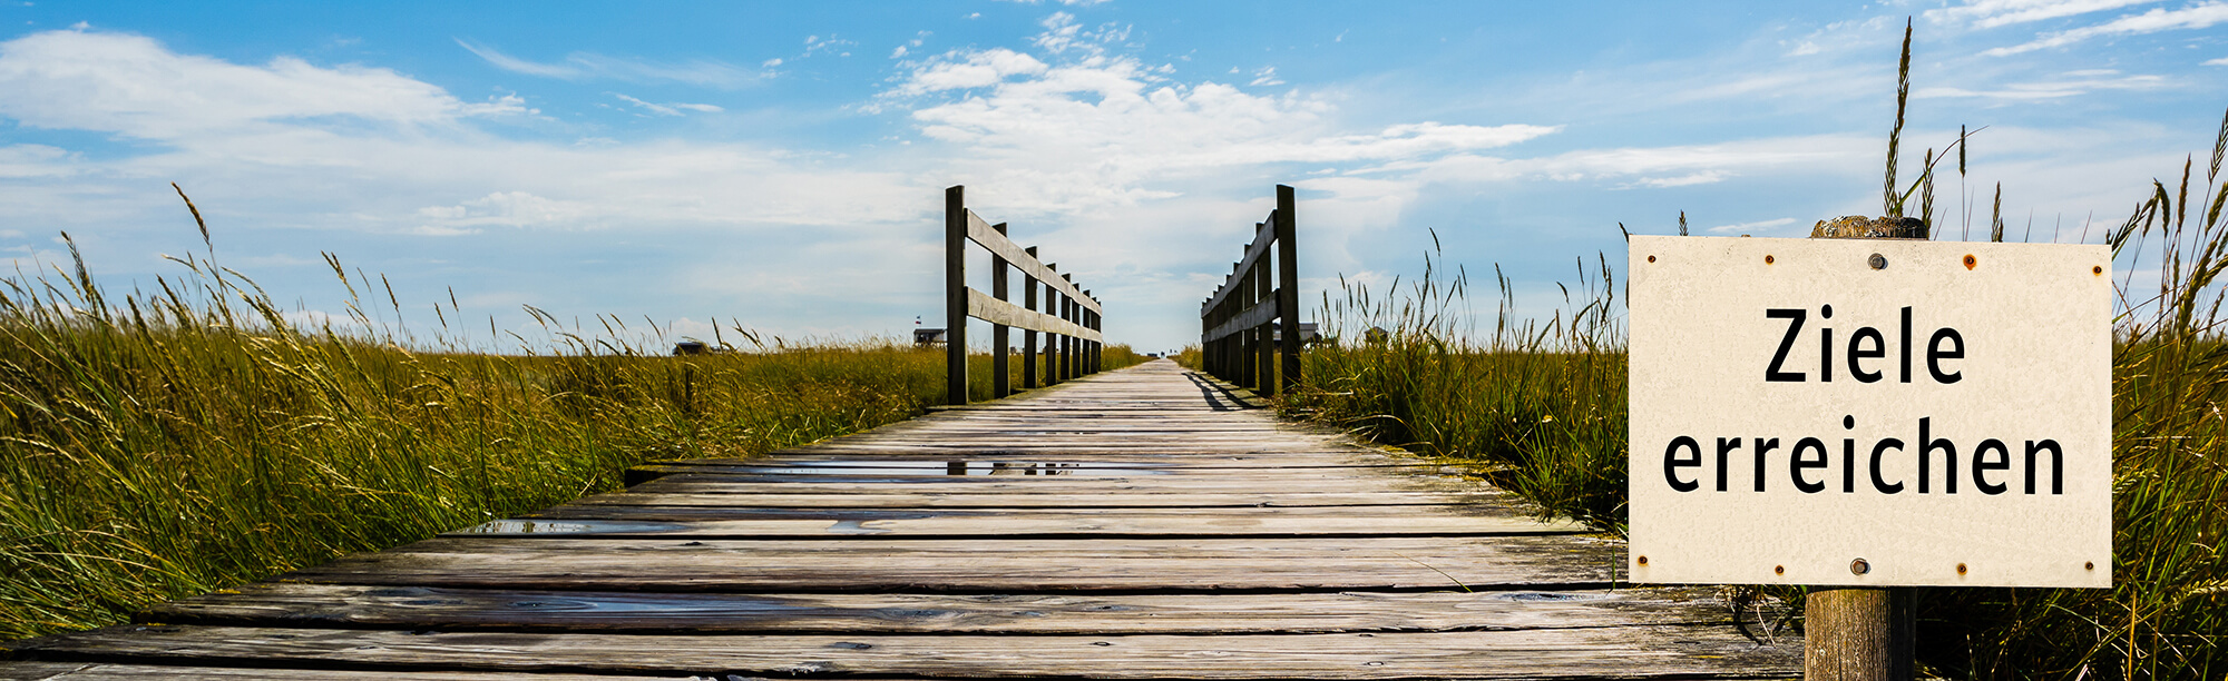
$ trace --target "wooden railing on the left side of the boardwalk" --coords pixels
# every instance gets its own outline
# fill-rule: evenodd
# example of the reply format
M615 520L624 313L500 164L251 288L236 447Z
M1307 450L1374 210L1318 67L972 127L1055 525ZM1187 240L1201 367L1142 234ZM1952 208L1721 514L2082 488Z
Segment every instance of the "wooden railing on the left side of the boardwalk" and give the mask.
M989 294L967 287L967 243L989 249ZM1020 305L1009 303L1007 272L1020 272ZM945 189L945 401L967 403L967 318L991 323L991 396L1014 394L1007 329L1023 329L1020 387L1038 387L1036 334L1045 334L1043 383L1061 383L1098 372L1103 307L1089 289L1036 258L1036 247L1005 238L1005 223L991 225L967 209L967 187Z

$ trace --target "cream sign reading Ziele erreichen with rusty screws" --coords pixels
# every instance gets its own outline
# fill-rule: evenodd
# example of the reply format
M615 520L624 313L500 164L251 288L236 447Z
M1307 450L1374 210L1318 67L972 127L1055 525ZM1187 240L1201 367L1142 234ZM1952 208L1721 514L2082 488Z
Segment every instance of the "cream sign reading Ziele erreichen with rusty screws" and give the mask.
M2112 585L2101 245L1631 238L1631 579Z

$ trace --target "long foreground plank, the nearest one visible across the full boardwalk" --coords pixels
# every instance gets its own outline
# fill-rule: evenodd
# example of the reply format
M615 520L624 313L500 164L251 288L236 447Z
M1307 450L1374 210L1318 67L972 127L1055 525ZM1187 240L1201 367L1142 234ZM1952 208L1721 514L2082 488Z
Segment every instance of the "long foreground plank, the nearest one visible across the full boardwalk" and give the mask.
M887 636L544 634L134 625L25 641L36 657L666 674L1094 679L1771 679L1798 645L1718 625L1430 634Z

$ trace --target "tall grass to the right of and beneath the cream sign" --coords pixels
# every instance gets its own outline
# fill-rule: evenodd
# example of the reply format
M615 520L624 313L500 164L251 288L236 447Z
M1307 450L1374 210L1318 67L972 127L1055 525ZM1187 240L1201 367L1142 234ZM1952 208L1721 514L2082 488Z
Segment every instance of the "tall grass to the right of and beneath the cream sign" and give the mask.
M2228 674L2228 120L2203 180L2152 194L2108 236L2119 289L2112 367L2112 590L1934 590L1936 659L1976 679ZM2195 203L2190 200L2197 182ZM2210 200L2208 200L2210 198ZM2192 214L2195 209L2195 214ZM2152 285L2137 272L2157 269Z

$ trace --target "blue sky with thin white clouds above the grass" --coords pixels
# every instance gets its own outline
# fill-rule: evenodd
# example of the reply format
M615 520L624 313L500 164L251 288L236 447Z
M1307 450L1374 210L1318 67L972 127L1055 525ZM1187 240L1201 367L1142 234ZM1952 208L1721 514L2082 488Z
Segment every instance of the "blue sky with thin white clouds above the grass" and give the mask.
M1878 214L1905 18L1905 178L1987 127L1945 238L2003 182L2014 238L2094 243L2228 107L2217 0L7 2L0 258L67 263L67 229L152 285L198 249L178 182L301 318L343 309L332 251L414 329L452 289L528 336L524 305L858 338L934 325L967 185L1167 349L1288 182L1301 300L1437 231L1542 312L1618 223Z

